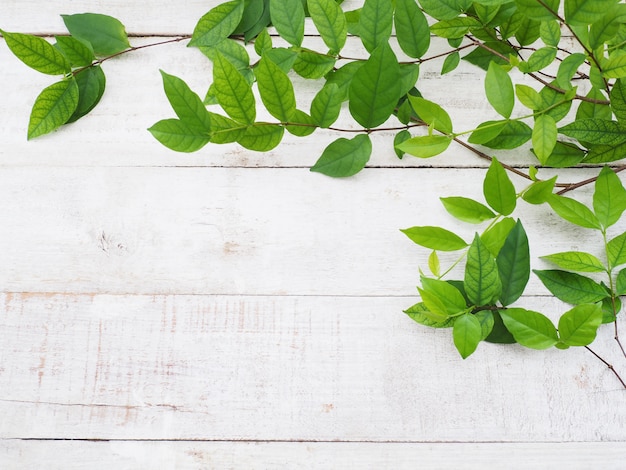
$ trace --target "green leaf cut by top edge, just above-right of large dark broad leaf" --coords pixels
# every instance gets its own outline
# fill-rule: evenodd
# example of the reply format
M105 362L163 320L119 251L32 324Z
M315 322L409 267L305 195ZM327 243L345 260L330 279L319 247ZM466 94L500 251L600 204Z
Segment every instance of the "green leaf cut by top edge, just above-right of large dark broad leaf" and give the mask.
M394 23L402 51L414 59L422 57L430 46L430 30L415 0L396 0Z

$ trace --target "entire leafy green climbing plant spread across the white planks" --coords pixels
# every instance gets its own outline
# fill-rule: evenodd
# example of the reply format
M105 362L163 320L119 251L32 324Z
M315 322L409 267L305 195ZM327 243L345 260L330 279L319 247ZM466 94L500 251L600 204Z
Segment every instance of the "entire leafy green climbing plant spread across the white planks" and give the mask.
M617 228L626 190L618 173L626 166L615 163L626 158L626 4L365 0L361 8L344 11L341 3L228 1L200 18L189 36L135 47L119 20L91 13L63 15L69 34L54 41L1 33L26 65L58 77L35 100L29 139L82 118L98 104L105 61L185 41L212 62L213 76L198 94L174 71L161 71L176 117L159 120L149 131L172 150L236 142L267 152L285 132L306 138L331 129L345 137L328 145L311 171L348 177L368 163L372 133L395 131L390 145L398 158L432 158L460 145L489 160L483 201L441 198L452 217L479 228L471 240L443 227L403 230L429 250L420 270L420 301L406 314L428 327L450 328L463 358L482 341L585 347L626 388L589 346L602 324L613 324L617 348L626 357L617 328L626 295L626 232ZM309 44L306 28L317 31L322 47ZM344 55L348 41L360 42L362 56ZM499 117L457 129L454 116L420 92L420 65L434 59L443 61L441 74L455 73L461 61L482 69L486 101ZM298 107L296 75L317 86L308 109ZM335 127L342 112L353 121L349 127ZM507 164L501 151L511 149L527 153L529 164ZM559 180L559 169L582 166L586 172L595 168L596 176ZM526 184L516 187L511 174ZM588 205L564 195L587 185L593 187ZM513 215L521 203L547 204L563 223L594 233L595 248L603 253L543 257L554 268L534 275L569 304L556 325L523 306L533 272L523 223ZM443 266L442 252L458 255Z

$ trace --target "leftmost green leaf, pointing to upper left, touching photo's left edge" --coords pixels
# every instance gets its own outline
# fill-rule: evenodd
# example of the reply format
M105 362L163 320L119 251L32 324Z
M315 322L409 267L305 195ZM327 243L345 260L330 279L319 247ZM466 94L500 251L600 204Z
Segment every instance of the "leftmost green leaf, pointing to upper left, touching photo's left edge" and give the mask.
M11 52L37 72L64 75L70 71L69 61L45 39L30 34L7 33L2 30L0 33Z

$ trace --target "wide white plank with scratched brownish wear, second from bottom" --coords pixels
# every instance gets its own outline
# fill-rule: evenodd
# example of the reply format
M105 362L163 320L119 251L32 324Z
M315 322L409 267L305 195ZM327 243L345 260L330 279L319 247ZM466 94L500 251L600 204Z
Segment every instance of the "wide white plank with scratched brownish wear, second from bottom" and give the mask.
M0 437L623 441L624 390L582 348L483 344L411 298L0 296ZM525 304L550 315L550 298ZM612 328L599 352L624 373Z

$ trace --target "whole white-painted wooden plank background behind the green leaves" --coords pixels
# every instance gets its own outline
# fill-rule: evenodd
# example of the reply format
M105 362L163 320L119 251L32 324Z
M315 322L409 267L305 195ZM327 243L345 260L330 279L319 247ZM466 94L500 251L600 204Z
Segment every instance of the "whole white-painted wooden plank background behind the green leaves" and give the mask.
M139 45L218 3L3 0L0 27L107 13ZM481 74L440 66L424 95L457 128L491 117ZM128 54L105 64L91 116L27 142L52 79L0 44L0 468L625 468L626 394L591 354L482 344L463 361L449 331L402 313L427 252L398 229L470 237L438 198L480 197L484 162L459 147L400 161L376 134L368 168L335 180L308 171L331 132L176 154L146 132L172 116L159 69L210 83L184 43ZM319 85L296 82L307 109ZM543 208L517 215L533 267L593 246ZM536 280L522 300L567 308ZM594 347L626 374L610 327Z

